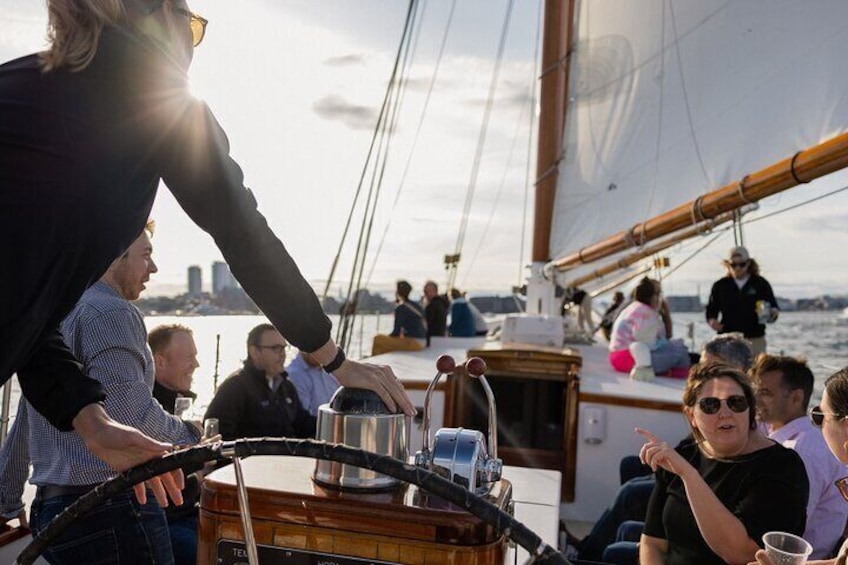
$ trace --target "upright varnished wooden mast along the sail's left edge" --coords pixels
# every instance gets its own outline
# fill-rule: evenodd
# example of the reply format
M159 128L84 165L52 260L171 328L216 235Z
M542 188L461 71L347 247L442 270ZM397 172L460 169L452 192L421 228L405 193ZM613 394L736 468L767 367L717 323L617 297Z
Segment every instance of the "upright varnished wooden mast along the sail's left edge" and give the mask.
M573 0L545 0L532 254L535 263L550 259L551 223L568 105L573 21Z

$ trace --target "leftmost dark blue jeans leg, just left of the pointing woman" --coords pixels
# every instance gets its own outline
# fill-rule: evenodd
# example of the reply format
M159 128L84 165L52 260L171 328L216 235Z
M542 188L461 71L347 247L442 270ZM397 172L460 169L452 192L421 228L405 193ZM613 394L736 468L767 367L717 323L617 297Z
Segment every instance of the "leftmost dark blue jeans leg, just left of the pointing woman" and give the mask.
M630 479L618 489L612 505L595 522L592 531L580 544L580 559L600 561L604 550L616 541L619 526L627 520L644 520L648 500L654 490L654 475Z

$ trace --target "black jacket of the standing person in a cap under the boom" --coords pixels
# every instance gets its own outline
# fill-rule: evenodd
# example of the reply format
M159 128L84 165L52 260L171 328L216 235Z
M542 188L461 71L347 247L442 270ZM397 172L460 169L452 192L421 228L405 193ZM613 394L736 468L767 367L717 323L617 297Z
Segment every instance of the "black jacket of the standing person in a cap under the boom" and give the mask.
M733 277L722 277L710 290L707 320L718 319L724 325L720 333L742 332L745 337L762 337L766 335L766 327L757 319L758 300L777 308L771 285L763 277L751 275L741 289Z

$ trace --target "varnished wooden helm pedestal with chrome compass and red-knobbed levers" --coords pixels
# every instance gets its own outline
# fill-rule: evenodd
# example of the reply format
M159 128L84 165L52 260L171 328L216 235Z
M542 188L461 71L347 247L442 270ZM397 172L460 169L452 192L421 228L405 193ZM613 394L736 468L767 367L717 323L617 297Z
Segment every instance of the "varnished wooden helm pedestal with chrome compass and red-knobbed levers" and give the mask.
M443 356L436 367L425 399L424 447L415 456L416 465L484 494L502 511L511 511L512 483L501 478L495 403L483 375L485 363L470 359L455 366L452 358ZM479 431L448 428L436 432L431 447L430 395L448 374L451 378L468 374L486 389L488 443ZM408 425L405 416L392 414L374 393L341 389L321 406L317 435L328 442L330 451L329 442L343 442L374 457L408 461ZM239 489L240 481L245 489ZM248 508L244 516L242 508ZM243 518L252 526L256 555L263 565L493 565L503 563L507 553L506 539L495 526L437 494L323 459L252 456L210 473L202 486L198 563L247 563L244 540L251 536Z

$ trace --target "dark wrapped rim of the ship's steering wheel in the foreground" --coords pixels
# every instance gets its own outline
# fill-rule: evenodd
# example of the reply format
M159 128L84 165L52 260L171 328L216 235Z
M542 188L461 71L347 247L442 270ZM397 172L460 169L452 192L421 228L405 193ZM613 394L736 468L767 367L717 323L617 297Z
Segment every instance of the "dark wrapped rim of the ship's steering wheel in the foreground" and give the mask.
M232 456L244 458L251 455L311 457L313 459L337 461L345 465L383 473L414 484L464 508L526 549L534 562L569 565L569 562L561 553L542 541L527 526L484 498L435 473L387 455L378 455L341 444L287 438L241 439L234 442L198 445L134 467L114 479L106 481L68 506L24 548L18 556L17 563L19 565L30 565L61 535L71 522L135 484L189 465L199 467L206 461L223 462Z

